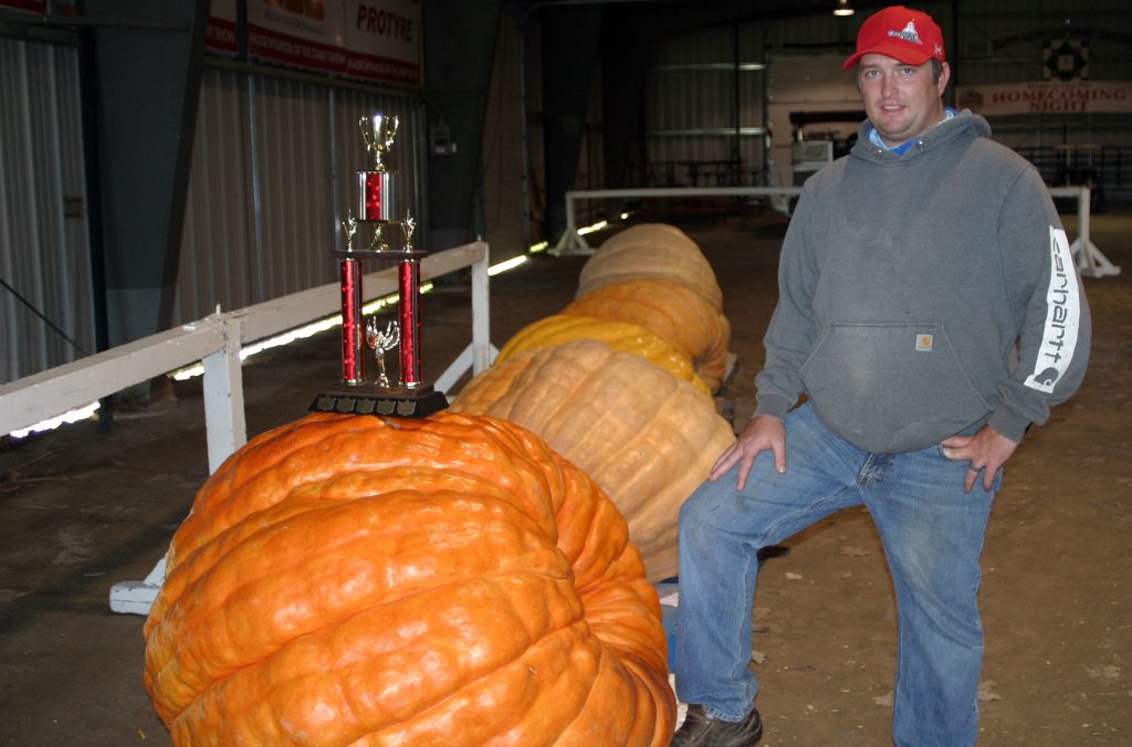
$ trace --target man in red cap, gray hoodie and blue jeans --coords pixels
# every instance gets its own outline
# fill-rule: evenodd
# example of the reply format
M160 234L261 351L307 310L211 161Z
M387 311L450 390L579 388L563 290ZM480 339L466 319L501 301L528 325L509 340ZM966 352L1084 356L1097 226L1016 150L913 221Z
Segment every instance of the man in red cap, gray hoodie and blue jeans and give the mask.
M1048 191L944 108L940 27L886 8L854 66L868 121L791 220L755 415L680 514L674 745L758 740L757 552L860 505L899 611L893 738L974 745L1001 469L1084 374L1089 312Z

